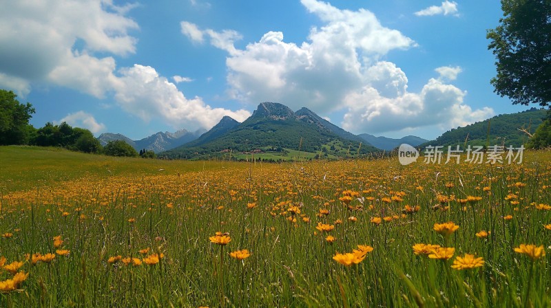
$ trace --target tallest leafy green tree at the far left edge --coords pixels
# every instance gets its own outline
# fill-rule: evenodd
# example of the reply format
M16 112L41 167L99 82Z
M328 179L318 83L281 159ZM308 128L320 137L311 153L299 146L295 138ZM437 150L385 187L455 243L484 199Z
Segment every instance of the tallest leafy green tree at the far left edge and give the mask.
M0 90L0 145L27 144L32 133L29 120L34 108L16 98L13 91Z

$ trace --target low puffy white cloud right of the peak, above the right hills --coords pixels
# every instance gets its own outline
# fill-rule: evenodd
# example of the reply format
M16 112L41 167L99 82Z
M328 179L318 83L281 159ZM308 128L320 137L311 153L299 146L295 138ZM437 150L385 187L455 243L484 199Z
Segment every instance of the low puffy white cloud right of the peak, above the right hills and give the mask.
M464 104L466 91L430 78L419 94L405 92L394 98L382 96L373 87L346 97L349 111L342 127L353 132L384 133L423 126L444 130L484 120L491 108L472 110Z

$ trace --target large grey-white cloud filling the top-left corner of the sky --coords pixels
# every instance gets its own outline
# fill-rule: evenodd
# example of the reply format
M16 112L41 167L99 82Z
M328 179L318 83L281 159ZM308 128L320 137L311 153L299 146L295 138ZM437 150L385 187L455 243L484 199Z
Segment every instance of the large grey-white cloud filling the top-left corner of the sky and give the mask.
M85 88L83 83L63 78L59 72L77 69L93 71L98 69L98 65L110 65L108 58L92 56L94 52L119 56L134 53L136 39L128 32L137 29L138 25L122 14L129 8L106 0L21 0L3 3L0 10L0 73L25 80L28 84L53 81L101 96L105 90L97 88L98 80L90 88ZM82 50L74 50L75 45ZM88 61L92 63L89 65ZM76 67L73 69L71 65ZM54 72L56 70L57 73ZM83 74L91 74L85 71Z

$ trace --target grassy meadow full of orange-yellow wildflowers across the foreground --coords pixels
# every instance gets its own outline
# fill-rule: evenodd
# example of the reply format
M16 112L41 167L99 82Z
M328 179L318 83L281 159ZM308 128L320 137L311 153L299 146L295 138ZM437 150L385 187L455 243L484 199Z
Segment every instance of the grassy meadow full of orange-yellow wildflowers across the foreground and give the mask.
M0 164L0 307L551 307L550 151Z

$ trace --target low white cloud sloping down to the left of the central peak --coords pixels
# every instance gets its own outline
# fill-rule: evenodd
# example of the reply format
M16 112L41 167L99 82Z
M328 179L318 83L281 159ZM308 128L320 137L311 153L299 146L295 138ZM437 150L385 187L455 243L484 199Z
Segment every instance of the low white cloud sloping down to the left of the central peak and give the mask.
M120 69L121 77L115 87L115 99L128 113L144 121L163 118L174 127L188 130L209 129L224 116L242 122L251 113L246 110L230 111L212 108L201 98L186 98L170 83L159 76L153 67L134 65Z

